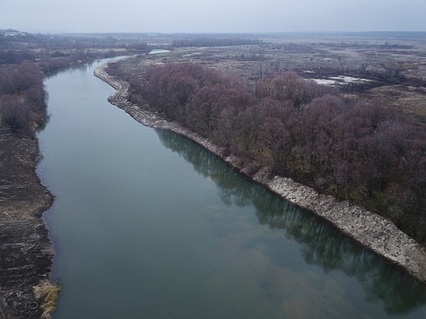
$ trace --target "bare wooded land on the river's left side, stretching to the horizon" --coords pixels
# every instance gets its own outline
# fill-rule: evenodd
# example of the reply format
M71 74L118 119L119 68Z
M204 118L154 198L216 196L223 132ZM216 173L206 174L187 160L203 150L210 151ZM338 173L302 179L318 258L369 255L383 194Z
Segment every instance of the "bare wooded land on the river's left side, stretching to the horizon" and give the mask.
M46 121L43 80L97 58L146 52L140 39L73 37L0 30L0 129L33 136Z

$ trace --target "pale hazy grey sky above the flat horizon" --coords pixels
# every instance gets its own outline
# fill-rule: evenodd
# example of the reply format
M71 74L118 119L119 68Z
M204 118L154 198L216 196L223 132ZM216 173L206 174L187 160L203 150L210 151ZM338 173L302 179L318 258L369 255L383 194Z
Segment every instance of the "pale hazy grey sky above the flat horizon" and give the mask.
M426 0L0 0L30 32L426 31Z

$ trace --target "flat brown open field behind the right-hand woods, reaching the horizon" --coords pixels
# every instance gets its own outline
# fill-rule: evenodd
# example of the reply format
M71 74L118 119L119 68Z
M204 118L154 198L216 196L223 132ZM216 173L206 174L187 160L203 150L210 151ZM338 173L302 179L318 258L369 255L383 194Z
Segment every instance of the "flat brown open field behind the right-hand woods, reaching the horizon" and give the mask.
M254 88L260 78L294 71L339 86L352 98L384 99L407 119L426 123L426 39L271 36L261 38L261 45L232 47L172 47L167 38L150 40L150 47L171 52L132 59L129 73L152 64L190 62Z

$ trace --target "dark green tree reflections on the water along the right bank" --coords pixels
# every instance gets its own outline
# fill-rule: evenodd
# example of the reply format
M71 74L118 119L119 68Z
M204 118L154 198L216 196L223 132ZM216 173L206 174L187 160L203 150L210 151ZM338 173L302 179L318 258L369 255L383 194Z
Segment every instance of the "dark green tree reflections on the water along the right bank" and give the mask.
M196 142L169 131L156 130L156 133L167 148L191 163L196 172L214 181L223 203L253 205L260 224L283 229L285 237L300 244L306 263L320 266L324 272L341 271L356 278L365 298L381 300L389 315L406 315L426 304L424 285L343 236L325 220L283 201L262 185L244 182L247 177Z

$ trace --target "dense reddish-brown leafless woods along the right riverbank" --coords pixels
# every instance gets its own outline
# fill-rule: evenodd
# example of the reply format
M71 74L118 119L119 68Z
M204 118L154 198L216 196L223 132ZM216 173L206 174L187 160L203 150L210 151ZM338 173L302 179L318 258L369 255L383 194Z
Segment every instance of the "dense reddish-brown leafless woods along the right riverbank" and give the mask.
M143 108L426 242L426 130L398 108L344 99L297 73L259 80L255 91L194 64L152 66L129 82L129 99Z

